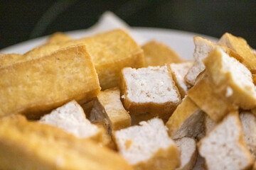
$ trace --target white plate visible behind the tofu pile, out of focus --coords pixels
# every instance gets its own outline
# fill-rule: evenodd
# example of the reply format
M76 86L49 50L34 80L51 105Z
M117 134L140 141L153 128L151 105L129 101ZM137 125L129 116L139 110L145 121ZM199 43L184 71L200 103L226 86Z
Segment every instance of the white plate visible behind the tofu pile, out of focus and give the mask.
M208 40L212 40L215 42L217 38L213 38L207 35L200 35L197 33L189 33L181 30L169 30L163 28L132 28L132 33L140 35L144 42L148 40L157 40L159 42L164 42L164 44L169 45L173 50L175 50L178 55L183 57L186 60L193 59L193 36L199 35L203 38L207 38ZM82 38L87 35L91 35L91 30L74 30L67 32L72 38ZM33 47L37 47L38 45L42 45L46 42L48 36L42 38L36 38L33 40L28 40L26 42L21 42L16 45L12 45L10 47L6 47L1 50L1 52L6 53L20 53L23 54L28 50L33 49Z

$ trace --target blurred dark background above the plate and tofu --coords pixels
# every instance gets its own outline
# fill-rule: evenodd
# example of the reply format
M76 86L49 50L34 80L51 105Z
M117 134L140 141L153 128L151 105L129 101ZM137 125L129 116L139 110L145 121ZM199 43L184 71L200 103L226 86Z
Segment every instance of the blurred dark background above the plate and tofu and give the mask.
M0 1L0 49L56 31L85 29L104 11L130 26L171 28L220 38L225 32L256 48L256 1Z

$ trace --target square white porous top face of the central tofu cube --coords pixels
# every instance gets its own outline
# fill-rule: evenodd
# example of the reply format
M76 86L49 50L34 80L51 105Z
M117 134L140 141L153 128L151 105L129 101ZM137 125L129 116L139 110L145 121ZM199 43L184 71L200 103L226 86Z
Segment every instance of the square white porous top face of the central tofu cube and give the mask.
M173 79L163 67L141 69L124 68L124 81L127 84L127 98L136 103L178 102L178 93L174 89Z

